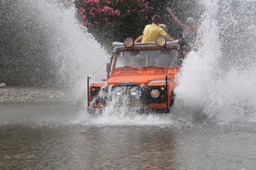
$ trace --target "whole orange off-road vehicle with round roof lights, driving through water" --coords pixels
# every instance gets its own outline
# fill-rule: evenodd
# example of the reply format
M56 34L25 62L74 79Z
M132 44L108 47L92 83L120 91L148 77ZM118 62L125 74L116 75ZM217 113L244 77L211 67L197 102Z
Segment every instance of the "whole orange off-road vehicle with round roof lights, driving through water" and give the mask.
M90 83L87 78L88 112L132 108L140 113L167 113L175 98L175 74L180 67L177 42L113 42L107 80Z

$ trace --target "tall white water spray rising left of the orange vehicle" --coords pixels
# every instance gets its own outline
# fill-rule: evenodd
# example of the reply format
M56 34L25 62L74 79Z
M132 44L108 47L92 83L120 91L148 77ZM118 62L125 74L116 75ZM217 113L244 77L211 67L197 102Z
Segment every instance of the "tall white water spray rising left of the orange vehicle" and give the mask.
M70 97L74 101L83 100L86 96L86 77L106 77L105 66L109 59L107 52L79 23L74 6L65 7L57 1L47 0L27 0L18 3L29 10L30 16L23 18L32 18L35 22L30 24L26 19L23 27L36 27L36 33L39 35L33 36L38 37L39 41L42 39L40 36L46 39L45 50L54 63L58 79L70 87Z

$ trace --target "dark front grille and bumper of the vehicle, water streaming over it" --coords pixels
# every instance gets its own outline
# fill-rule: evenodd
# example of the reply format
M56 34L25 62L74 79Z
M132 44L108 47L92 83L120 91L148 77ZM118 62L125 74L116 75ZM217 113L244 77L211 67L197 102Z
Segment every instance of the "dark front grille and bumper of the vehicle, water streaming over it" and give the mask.
M154 91L154 94L153 92ZM157 91L157 94L155 94ZM104 108L112 104L115 107L138 107L165 109L171 106L171 90L168 94L165 85L140 86L140 85L112 85L98 88L89 104L90 108ZM170 98L170 100L168 100Z

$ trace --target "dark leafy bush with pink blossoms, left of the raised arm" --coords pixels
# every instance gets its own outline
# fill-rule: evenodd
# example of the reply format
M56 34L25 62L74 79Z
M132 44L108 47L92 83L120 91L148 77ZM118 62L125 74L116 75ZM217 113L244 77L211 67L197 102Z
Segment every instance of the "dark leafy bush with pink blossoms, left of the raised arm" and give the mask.
M145 0L76 0L75 3L83 25L104 46L123 41L126 36L140 35L154 9Z

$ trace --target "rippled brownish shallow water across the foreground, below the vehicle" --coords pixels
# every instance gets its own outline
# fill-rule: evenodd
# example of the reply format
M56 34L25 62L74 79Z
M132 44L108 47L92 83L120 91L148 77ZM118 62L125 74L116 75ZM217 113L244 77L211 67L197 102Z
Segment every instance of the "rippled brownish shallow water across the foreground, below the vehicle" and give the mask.
M0 169L255 169L254 123L92 117L63 103L1 103Z

